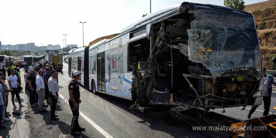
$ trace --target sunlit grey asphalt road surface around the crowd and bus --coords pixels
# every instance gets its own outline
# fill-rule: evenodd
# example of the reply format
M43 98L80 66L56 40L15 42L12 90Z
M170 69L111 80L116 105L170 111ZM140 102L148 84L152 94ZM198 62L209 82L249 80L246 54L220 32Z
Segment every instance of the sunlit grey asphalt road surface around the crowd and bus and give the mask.
M24 79L24 71L21 69L21 78ZM21 115L12 115L11 121L4 122L6 130L0 130L0 136L4 138L68 138L70 135L70 125L72 112L67 103L69 99L68 84L71 80L67 74L67 64L64 63L64 74L59 73L59 99L56 114L60 120L50 120L50 105L48 113L38 113L37 106L30 107L29 96L21 91L20 98L25 106L19 108ZM25 84L22 83L23 88ZM94 95L90 91L80 87L81 100L79 124L86 128L86 131L80 133L82 138L210 138L210 137L228 137L229 135L221 131L193 131L192 126L178 117L172 116L169 111L159 111L151 113L141 113L131 110L129 107L132 102L122 98L117 98L105 94ZM273 93L275 96L275 93ZM7 111L15 111L9 95ZM276 105L272 98L270 112L273 112L273 106ZM247 107L251 108L251 107ZM228 116L238 119L247 119L249 109L241 111L240 107L225 109ZM263 114L263 105L259 106L252 114L252 117L261 117ZM223 109L211 110L221 113Z

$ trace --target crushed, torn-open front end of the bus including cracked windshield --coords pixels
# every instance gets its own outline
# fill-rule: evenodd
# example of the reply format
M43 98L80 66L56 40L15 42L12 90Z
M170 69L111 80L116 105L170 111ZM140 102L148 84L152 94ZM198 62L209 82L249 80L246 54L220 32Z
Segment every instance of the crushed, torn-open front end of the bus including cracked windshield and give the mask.
M254 17L231 8L182 3L151 22L150 53L134 65L135 105L202 107L262 104L262 62Z

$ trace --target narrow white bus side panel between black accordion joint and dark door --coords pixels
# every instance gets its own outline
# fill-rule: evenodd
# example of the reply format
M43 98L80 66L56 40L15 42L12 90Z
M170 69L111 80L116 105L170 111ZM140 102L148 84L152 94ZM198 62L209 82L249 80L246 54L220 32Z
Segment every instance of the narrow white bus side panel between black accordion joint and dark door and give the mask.
M89 89L92 90L92 80L95 81L96 90L98 90L97 81L97 49L89 51Z

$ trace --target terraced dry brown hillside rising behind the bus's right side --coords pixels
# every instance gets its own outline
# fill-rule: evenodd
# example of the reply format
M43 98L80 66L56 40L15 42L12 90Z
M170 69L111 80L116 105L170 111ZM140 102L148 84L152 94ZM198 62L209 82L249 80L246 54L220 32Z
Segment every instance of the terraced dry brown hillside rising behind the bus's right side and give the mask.
M246 5L245 11L254 15L257 24L263 67L273 70L271 59L276 57L276 0Z

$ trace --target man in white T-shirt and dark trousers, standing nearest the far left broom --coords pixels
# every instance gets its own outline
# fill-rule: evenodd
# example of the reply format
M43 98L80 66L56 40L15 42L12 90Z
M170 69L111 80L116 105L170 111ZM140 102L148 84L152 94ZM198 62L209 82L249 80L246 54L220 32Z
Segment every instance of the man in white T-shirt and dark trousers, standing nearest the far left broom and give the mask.
M18 103L19 103L19 107L24 107L21 104L19 93L18 93L18 88L17 88L17 85L21 87L21 84L18 82L18 79L17 79L17 76L15 75L15 70L14 69L11 69L11 73L12 73L12 75L9 76L8 82L9 82L10 88L12 88L12 100L14 101L14 96L16 95L16 98L17 98ZM17 108L17 107L15 105L13 105L13 108Z

